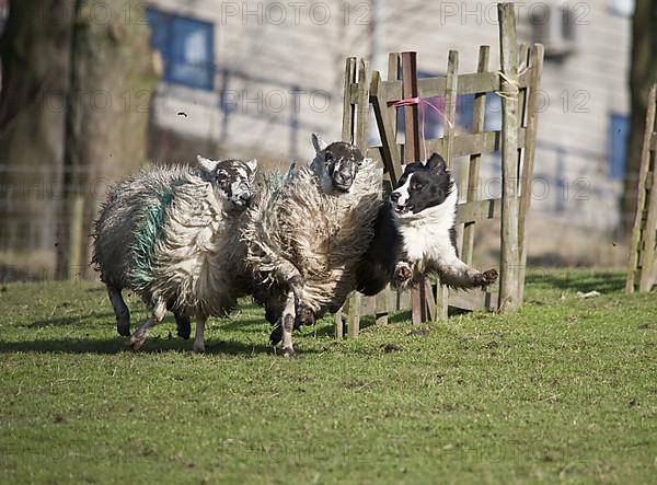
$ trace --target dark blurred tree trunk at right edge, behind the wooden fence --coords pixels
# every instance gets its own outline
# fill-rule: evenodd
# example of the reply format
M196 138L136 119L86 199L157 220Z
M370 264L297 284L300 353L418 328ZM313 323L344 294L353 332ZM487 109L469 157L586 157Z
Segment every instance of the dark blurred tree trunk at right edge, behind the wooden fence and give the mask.
M634 222L648 91L657 80L657 30L655 25L657 25L657 4L653 0L636 0L632 22L632 67L630 71L631 134L621 199L621 229L624 233L632 230Z

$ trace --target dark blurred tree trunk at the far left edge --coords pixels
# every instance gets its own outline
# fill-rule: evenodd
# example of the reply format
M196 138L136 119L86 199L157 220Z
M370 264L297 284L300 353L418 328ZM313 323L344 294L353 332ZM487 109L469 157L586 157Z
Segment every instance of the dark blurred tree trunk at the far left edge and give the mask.
M70 5L12 0L0 39L0 251L13 255L51 253L71 24L70 16L57 15Z

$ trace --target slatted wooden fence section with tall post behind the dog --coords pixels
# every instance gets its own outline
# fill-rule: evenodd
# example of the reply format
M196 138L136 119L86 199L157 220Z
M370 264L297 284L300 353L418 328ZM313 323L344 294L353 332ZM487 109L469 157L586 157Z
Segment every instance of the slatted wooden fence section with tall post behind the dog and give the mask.
M498 4L499 69L489 70L489 46L481 46L477 72L459 71L459 53L450 50L443 76L417 79L415 53L393 53L389 56L387 79L372 71L367 61L347 58L344 88L343 140L356 143L364 153L379 160L385 181L392 185L402 174L404 162L418 161L433 152L440 153L448 166L456 158L466 158L468 170L457 181L461 190L466 187L465 200L458 205L457 229L461 258L472 264L476 223L502 217L499 290L449 291L446 287L425 281L411 295L385 290L376 297L354 293L335 319L336 337L344 335L344 313L348 335L356 336L359 317L376 314L377 322L387 320L390 311L412 308L413 322L447 317L448 304L466 310L481 308L508 312L523 299L525 219L530 206L533 173L534 141L538 111L537 92L543 65L543 46L518 46L512 3ZM401 69L400 69L401 68ZM401 71L401 79L400 79ZM484 130L486 94L502 97L502 129ZM473 101L472 132L456 129L458 96L471 95ZM401 100L437 97L443 100L443 136L424 139L419 135L422 103L397 107ZM396 106L395 106L396 105ZM368 145L368 116L373 111L381 146ZM404 109L405 142L397 142L397 109ZM426 149L426 153L425 153ZM502 152L502 197L479 198L482 155Z

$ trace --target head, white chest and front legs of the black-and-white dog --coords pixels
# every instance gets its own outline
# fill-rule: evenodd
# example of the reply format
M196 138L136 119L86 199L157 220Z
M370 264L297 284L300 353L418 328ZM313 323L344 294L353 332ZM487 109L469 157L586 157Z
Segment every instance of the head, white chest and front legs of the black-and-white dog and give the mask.
M406 289L431 273L452 288L485 288L496 281L495 269L480 272L459 258L454 227L458 188L442 157L434 153L426 163L405 165L390 199L403 236L394 286Z

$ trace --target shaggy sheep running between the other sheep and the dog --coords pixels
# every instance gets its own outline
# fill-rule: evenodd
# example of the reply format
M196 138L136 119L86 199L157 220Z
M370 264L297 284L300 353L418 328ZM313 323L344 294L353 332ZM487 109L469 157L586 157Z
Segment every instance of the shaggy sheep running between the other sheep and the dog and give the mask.
M358 286L357 269L383 201L382 170L346 142L313 136L315 160L286 181L269 177L246 215L242 241L254 299L280 326L283 355L295 327L335 312Z

